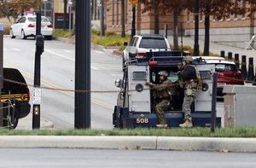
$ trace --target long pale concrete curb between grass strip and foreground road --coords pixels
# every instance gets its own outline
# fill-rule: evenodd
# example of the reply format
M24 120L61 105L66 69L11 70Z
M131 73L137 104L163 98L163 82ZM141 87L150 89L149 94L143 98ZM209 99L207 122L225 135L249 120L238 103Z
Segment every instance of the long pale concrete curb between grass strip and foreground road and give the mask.
M256 152L256 138L167 136L0 136L0 148L104 148Z

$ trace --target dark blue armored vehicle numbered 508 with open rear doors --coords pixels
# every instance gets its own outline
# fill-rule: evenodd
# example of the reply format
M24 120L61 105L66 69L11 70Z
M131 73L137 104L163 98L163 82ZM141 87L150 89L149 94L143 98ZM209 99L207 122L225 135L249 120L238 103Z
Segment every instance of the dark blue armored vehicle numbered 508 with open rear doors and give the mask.
M120 88L117 104L113 111L113 125L116 128L155 127L158 119L154 111L157 103L155 90L150 90L146 84L160 83L160 71L168 72L172 81L171 103L165 117L168 127L175 127L183 123L183 89L179 87L177 72L178 64L183 61L180 51L148 52L141 59L125 62L122 79L115 81ZM191 107L194 126L209 126L212 113L212 73L214 65L207 65L204 61L194 61L203 78L202 90L198 92ZM220 125L220 119L216 119Z

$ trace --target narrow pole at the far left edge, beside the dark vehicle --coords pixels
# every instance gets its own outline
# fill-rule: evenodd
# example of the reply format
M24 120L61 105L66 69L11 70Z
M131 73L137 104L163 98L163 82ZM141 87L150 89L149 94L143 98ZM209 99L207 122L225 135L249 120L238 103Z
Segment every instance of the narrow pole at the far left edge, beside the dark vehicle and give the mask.
M0 90L3 89L3 24L0 24ZM1 91L0 91L1 98ZM0 127L3 126L3 103L0 100Z

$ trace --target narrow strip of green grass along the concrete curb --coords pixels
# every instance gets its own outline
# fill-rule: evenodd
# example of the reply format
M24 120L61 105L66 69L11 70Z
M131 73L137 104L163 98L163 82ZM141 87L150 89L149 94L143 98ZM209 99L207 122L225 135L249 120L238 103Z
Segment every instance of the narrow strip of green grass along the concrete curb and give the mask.
M218 128L214 133L210 128L194 127L189 129L137 128L130 130L6 130L0 129L4 136L199 136L199 137L256 137L256 127Z

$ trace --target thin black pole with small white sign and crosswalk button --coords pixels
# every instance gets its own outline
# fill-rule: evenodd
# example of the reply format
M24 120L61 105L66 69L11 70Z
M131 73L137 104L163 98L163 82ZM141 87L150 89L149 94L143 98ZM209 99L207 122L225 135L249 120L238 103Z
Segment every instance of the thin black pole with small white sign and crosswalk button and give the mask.
M37 12L36 26L36 54L34 69L34 88L33 88L33 113L32 113L32 129L40 128L40 104L42 90L41 85L41 55L44 52L44 37L41 34L41 10Z

